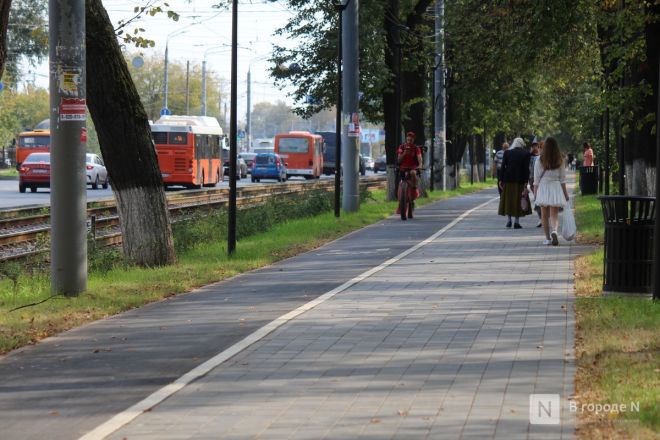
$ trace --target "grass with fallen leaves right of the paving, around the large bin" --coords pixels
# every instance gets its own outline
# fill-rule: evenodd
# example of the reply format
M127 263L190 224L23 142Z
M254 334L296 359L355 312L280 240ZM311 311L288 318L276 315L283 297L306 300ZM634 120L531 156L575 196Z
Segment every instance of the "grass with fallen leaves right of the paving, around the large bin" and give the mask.
M578 411L578 435L585 439L657 439L660 303L602 296L604 221L600 202L596 196L576 196L575 208L580 241L599 244L597 250L575 262L578 408L589 404L603 408L625 404L627 408Z

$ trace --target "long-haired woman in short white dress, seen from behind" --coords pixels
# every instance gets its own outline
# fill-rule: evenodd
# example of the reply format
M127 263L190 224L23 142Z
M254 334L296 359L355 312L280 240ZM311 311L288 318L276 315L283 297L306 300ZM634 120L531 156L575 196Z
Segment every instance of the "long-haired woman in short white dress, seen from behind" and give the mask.
M541 157L534 164L534 195L541 207L541 221L545 233L544 245L559 245L559 208L567 205L566 169L557 140L545 140ZM567 208L570 209L570 208Z

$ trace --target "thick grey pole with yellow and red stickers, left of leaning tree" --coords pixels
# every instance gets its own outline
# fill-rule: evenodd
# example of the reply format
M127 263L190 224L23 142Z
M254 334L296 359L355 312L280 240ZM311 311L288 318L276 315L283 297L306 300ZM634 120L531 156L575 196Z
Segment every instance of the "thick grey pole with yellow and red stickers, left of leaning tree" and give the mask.
M49 0L51 288L87 289L85 1Z

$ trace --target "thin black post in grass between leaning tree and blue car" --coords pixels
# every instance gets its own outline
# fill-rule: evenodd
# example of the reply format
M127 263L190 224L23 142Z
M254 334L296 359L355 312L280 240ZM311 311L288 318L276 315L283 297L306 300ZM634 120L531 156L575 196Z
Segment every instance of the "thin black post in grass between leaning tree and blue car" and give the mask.
M236 99L238 96L238 0L232 0L231 8L231 108L229 113L229 233L227 252L236 250L236 136L238 130Z

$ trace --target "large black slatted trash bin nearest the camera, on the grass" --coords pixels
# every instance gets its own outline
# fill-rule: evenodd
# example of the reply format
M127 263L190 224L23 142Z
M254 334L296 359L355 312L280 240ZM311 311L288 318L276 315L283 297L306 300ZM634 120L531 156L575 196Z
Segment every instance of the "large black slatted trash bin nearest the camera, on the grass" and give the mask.
M602 196L606 292L650 293L655 197Z

